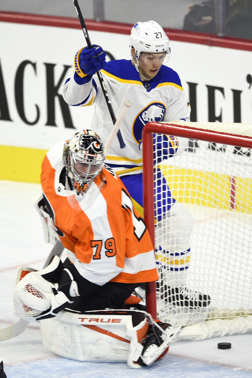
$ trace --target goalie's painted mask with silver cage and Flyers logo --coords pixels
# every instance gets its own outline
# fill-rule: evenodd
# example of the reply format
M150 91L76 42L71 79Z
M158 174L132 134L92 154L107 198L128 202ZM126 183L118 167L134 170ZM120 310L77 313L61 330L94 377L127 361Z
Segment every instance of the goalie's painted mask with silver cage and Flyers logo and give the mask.
M85 194L95 177L99 175L105 161L103 144L92 130L81 130L65 143L63 162L72 189Z

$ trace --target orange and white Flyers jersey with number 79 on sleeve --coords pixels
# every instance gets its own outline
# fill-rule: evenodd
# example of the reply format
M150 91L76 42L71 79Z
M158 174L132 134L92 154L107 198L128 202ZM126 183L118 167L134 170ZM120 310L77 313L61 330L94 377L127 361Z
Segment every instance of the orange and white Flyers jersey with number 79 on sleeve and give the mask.
M53 227L78 272L97 285L157 280L149 232L122 181L105 165L84 195L69 197L63 146L45 155L41 184Z

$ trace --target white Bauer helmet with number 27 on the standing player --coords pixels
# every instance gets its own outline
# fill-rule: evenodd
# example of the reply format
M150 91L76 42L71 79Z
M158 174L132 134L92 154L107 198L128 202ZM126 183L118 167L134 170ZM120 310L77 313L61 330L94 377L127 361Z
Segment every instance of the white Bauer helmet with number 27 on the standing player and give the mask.
M137 22L131 29L130 51L135 49L136 59L139 59L141 52L171 53L169 38L164 29L155 21Z

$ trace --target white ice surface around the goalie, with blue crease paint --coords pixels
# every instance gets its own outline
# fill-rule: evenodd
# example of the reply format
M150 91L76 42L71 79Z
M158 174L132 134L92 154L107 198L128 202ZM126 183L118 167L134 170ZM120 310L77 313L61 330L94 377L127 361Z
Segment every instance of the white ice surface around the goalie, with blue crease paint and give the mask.
M0 181L0 327L17 321L12 295L17 266L41 269L52 246L45 244L42 224L33 206L38 184ZM231 342L219 350L218 342ZM87 363L54 355L41 342L39 324L30 323L16 338L0 342L7 378L246 378L252 377L252 334L202 341L178 341L166 357L149 368L130 369L126 363Z

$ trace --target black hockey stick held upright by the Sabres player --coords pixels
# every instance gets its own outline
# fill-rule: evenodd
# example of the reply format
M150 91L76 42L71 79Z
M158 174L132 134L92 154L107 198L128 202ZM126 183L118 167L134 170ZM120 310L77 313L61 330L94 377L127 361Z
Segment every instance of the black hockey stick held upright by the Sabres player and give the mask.
M86 28L85 21L83 19L83 15L81 14L81 10L80 10L80 6L78 4L78 1L77 0L73 0L73 2L74 2L75 10L76 10L78 19L80 21L80 25L81 25L81 28L83 30L83 33L84 33L84 36L85 36L88 48L92 48L92 43L91 43L91 40L89 38L88 30ZM108 106L108 110L110 112L111 119L113 121L113 124L115 124L116 123L116 116L114 114L114 110L112 108L112 105L111 105L111 102L110 102L110 98L108 96L108 92L106 90L105 83L103 81L102 74L100 73L100 71L96 71L96 73L97 73L97 76L98 76L98 79L99 79L99 82L100 82L100 85L101 85L101 88L102 88L103 95L104 95L105 100L106 100L106 104ZM125 143L124 143L124 140L122 139L122 134L121 134L121 131L119 129L117 131L117 138L118 138L118 141L120 143L120 148L124 148L125 147Z

